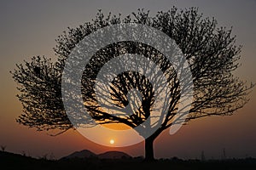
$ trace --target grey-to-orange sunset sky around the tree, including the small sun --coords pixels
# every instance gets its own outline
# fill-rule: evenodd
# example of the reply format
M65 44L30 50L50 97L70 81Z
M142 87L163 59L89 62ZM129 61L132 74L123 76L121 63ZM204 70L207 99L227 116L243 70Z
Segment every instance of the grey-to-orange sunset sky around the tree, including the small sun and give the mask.
M9 71L34 55L55 59L52 48L55 38L67 30L90 21L97 9L108 14L131 14L145 8L155 14L175 5L177 8L198 7L204 16L215 17L219 26L233 26L237 43L243 46L241 67L235 72L247 82L256 82L256 1L195 1L195 0L94 0L94 1L1 1L0 3L0 145L7 151L26 152L30 156L52 153L55 158L76 150L95 153L107 150L125 151L131 156L143 156L143 143L124 148L101 146L70 130L57 137L46 132L19 125L15 118L22 112L16 84ZM256 157L256 88L250 101L233 116L211 116L189 122L177 133L168 130L154 142L155 156L200 158L204 150L207 158L220 158L225 148L228 157Z

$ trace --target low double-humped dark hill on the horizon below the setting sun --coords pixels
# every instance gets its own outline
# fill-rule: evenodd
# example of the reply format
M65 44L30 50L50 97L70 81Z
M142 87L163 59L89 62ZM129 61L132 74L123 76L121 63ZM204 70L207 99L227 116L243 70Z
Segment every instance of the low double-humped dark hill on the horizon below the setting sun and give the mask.
M102 154L96 155L90 150L81 150L81 151L75 151L72 154L68 156L64 156L62 159L73 159L73 158L89 158L89 157L96 157L99 159L123 159L123 158L131 158L128 154L122 151L107 151Z

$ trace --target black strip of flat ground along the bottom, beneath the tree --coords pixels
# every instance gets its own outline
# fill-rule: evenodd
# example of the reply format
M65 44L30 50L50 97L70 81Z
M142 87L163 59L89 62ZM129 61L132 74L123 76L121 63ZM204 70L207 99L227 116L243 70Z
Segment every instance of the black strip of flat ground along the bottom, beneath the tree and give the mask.
M145 162L142 158L125 158L119 160L110 159L69 159L69 160L47 160L44 158L36 159L28 156L21 156L9 152L0 151L0 169L55 169L55 170L76 170L76 169L121 169L121 170L160 170L160 169L256 169L256 159L229 159L224 161L199 161L199 160L180 160L177 158L160 159L154 162Z

